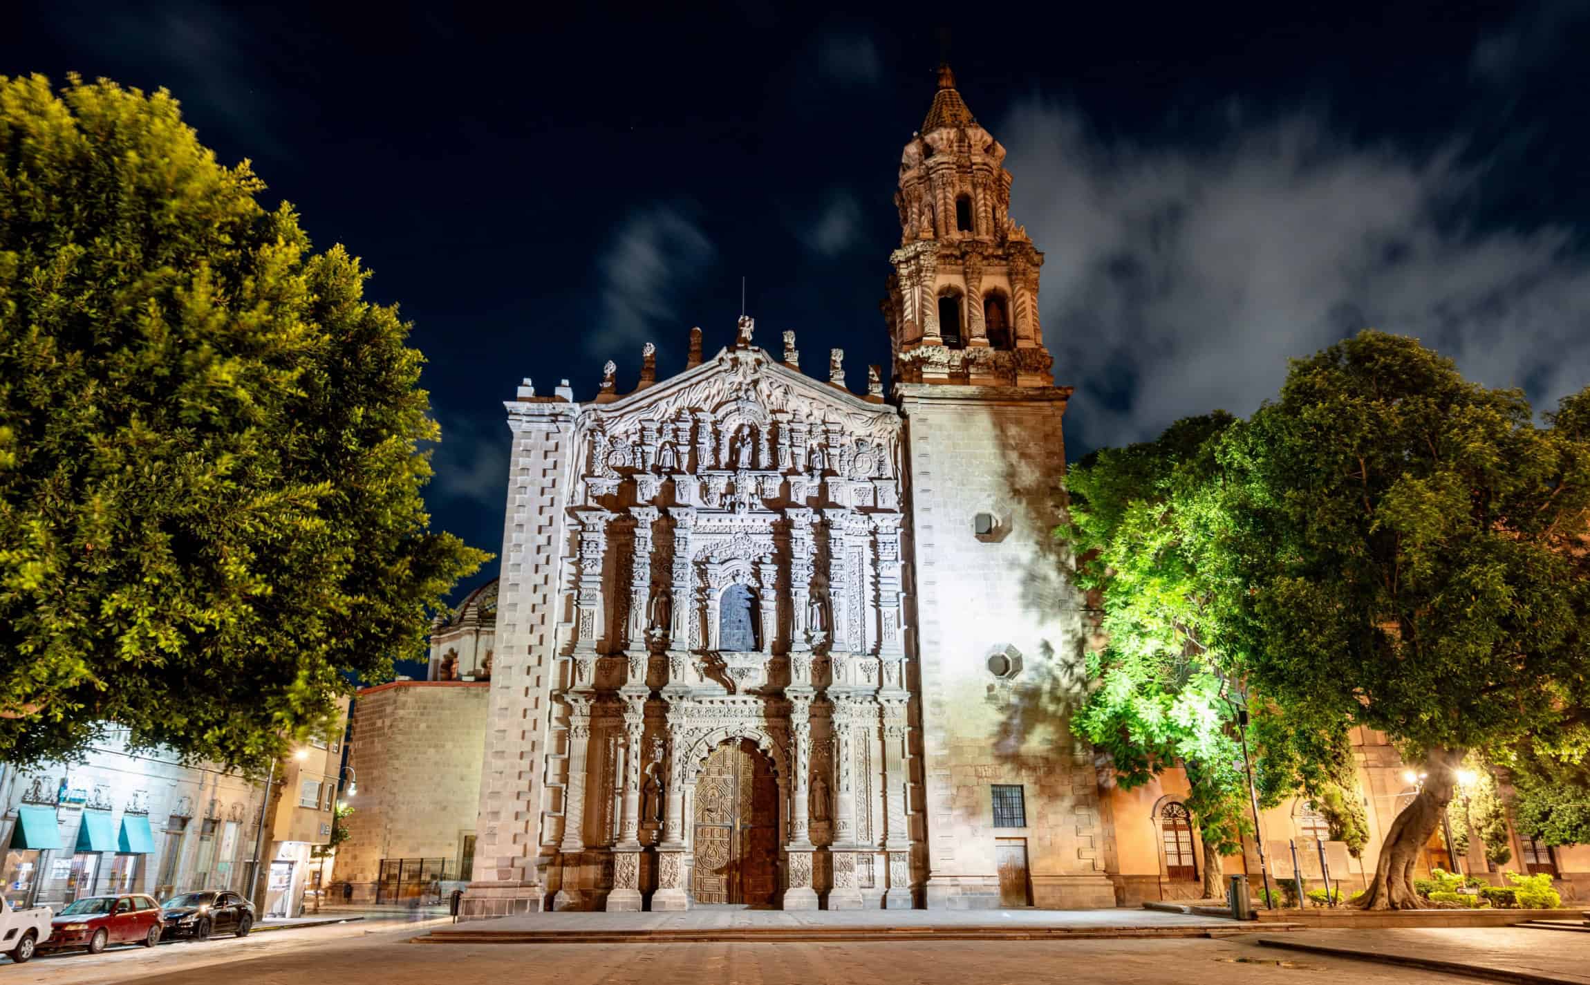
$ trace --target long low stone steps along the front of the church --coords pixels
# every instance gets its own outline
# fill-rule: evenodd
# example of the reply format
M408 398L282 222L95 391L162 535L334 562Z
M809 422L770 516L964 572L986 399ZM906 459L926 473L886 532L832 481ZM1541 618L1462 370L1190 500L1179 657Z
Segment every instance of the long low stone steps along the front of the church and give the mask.
M1258 929L1253 925L1210 923L1181 926L722 926L657 929L437 929L412 944L790 944L830 941L1088 941L1113 937L1224 937ZM1266 925L1264 931L1293 929Z

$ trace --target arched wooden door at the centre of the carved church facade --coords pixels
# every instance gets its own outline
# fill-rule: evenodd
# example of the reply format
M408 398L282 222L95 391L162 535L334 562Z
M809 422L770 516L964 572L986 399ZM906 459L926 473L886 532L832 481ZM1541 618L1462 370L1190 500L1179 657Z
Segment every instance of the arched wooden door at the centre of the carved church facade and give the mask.
M770 906L779 888L779 788L773 763L733 739L712 750L695 790L698 904Z

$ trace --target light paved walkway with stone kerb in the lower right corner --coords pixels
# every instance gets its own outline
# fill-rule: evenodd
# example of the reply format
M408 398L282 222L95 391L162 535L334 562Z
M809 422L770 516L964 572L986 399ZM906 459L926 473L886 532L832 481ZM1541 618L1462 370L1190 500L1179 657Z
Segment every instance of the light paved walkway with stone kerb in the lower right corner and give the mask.
M1517 985L1590 985L1590 934L1518 926L1304 929L1258 944Z

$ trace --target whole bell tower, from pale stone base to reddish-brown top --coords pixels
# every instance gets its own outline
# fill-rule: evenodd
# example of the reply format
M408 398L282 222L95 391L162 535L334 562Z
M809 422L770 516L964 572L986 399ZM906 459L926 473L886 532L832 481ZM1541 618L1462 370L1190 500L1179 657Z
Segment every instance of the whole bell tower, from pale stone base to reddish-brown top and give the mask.
M1110 907L1092 750L1067 724L1086 680L1081 599L1054 539L1072 389L1054 386L1043 254L1010 219L1003 160L940 68L900 159L884 302L909 462L921 899Z

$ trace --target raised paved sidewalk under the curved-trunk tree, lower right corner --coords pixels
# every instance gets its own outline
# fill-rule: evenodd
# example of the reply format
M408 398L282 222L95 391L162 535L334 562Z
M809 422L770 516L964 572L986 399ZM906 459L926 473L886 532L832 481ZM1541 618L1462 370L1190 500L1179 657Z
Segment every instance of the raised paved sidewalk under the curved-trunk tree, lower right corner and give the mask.
M1565 917L1568 915L1565 914ZM1262 936L1272 937L1270 934ZM1356 953L1456 961L1590 985L1590 934L1579 933L1518 926L1328 929L1275 934L1274 941L1282 945L1313 945L1347 948ZM1270 950L1270 953L1293 953L1299 961L1315 960L1313 953L1280 948Z

